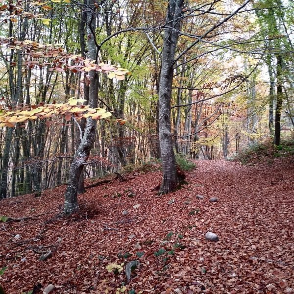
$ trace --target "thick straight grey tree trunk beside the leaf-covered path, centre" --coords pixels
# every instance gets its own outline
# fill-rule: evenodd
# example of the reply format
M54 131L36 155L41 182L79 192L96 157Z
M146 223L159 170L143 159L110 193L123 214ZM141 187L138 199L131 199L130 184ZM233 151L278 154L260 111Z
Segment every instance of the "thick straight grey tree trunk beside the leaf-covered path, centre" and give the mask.
M175 48L181 21L183 0L171 0L168 5L167 27L164 33L162 64L159 83L159 143L163 177L159 194L174 190L179 184L172 144L171 96ZM176 21L175 21L176 20Z

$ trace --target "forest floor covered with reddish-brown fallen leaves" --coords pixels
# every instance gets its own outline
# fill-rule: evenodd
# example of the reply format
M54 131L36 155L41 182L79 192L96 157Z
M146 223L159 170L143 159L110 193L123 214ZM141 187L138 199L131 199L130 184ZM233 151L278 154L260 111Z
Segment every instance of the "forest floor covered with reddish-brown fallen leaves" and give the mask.
M161 172L133 172L87 189L86 208L55 221L66 186L0 201L0 215L26 217L0 223L6 294L49 284L52 294L294 293L294 158L196 165L172 194L156 195ZM127 282L133 260L140 265Z

